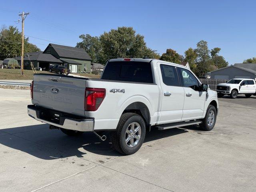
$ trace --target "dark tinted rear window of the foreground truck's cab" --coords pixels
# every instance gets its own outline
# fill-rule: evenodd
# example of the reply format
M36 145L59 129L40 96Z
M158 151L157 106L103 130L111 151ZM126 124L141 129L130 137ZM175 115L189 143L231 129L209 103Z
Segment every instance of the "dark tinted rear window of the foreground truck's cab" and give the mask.
M153 83L151 64L150 62L135 61L108 62L102 79Z

